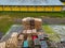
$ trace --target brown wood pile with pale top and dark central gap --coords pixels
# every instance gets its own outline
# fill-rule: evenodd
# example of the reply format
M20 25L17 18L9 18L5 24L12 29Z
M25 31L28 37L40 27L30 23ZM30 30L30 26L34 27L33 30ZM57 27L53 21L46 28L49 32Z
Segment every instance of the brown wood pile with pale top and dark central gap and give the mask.
M41 29L42 20L40 18L24 18L22 19L23 26L25 30L31 30L31 29Z

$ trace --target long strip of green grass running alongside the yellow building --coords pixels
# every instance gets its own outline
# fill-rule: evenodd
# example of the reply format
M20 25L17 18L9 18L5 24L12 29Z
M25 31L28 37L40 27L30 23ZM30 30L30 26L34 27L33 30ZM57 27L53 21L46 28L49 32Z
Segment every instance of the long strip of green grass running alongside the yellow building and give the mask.
M0 12L0 15L9 15L11 17L65 17L65 12Z

